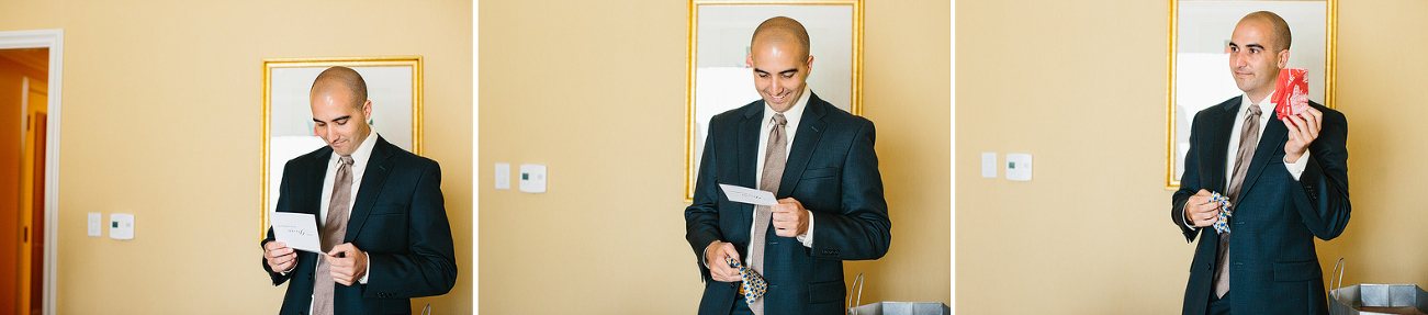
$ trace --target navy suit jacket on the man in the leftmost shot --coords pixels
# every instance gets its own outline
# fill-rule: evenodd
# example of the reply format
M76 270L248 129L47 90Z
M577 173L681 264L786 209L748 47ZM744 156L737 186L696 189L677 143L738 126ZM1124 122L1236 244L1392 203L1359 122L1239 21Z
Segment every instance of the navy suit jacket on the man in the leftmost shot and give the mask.
M376 134L373 134L376 137ZM278 212L313 214L318 220L323 177L333 148L287 161L278 191ZM323 227L323 222L317 222ZM273 228L267 239L273 241ZM410 298L441 295L456 285L451 225L441 197L441 167L378 137L353 202L343 242L367 252L367 284L334 284L334 314L411 314ZM260 245L261 245L260 244ZM267 261L273 285L288 282L280 314L307 314L313 304L317 254L298 251L297 267L283 275Z

